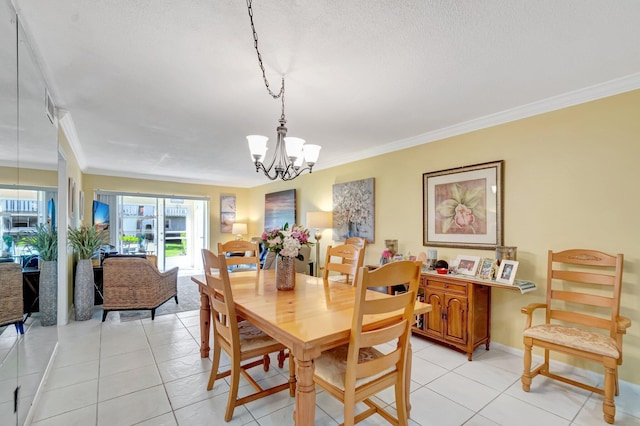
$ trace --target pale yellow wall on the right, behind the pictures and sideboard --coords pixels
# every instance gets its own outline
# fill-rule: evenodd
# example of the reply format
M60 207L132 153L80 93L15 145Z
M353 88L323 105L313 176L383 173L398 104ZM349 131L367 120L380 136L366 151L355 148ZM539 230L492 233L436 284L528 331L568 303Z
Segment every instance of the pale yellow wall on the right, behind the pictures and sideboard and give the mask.
M366 263L377 263L385 239L400 252L422 246L422 174L504 160L504 243L518 247L518 277L533 294L492 292L492 341L522 349L520 307L544 298L547 250L593 248L624 253L624 339L620 377L640 383L640 90L424 144L250 191L252 233L263 226L264 194L295 188L298 222L307 211L330 210L335 183L375 178L375 243ZM322 161L322 158L320 159ZM322 252L331 240L323 233ZM440 258L490 251L438 248ZM581 367L593 366L578 364ZM598 371L598 370L597 370Z

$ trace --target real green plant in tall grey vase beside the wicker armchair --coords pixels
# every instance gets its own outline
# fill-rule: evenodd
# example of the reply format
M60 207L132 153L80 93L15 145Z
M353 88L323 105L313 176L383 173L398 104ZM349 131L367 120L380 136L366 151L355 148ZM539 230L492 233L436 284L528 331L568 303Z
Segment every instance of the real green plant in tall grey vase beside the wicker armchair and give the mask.
M76 266L75 287L73 299L76 313L76 321L86 321L93 315L95 302L95 286L93 279L93 264L91 257L107 239L107 233L98 229L95 225L81 226L78 229L69 227L67 234L69 246L78 253Z

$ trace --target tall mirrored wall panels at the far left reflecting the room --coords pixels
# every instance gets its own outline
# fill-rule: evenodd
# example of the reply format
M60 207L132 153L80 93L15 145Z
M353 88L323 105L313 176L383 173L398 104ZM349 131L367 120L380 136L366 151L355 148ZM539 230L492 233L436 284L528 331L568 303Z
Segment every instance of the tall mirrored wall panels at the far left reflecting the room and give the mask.
M4 252L0 258L4 254L24 267L26 252L21 243L24 233L50 217L50 206L55 205L56 210L58 207L57 128L47 116L44 78L9 0L0 0L0 22L0 217L3 228L8 228L12 246L8 247L4 238L0 240L4 244L0 245L0 251ZM49 204L49 199L55 203ZM27 292L24 280L22 290ZM26 301L27 295L24 296ZM6 299L0 292L0 310L7 306L3 300ZM38 303L32 306L37 309ZM0 326L0 424L3 425L27 422L58 339L57 327L42 326L38 312L23 318L24 335L19 334L12 323ZM16 388L19 389L17 412L14 410Z

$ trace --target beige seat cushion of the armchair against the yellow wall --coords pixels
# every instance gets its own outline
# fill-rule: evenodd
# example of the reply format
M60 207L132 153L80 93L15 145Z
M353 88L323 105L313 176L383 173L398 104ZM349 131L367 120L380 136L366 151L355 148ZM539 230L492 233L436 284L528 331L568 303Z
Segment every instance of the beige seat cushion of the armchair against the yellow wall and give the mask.
M581 328L540 324L526 329L523 335L614 359L620 356L616 342L611 337Z

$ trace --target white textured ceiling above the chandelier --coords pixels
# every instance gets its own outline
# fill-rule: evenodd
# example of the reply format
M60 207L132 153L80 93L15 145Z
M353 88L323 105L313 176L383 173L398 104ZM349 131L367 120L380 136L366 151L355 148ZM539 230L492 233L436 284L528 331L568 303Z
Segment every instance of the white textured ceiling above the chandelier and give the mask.
M253 187L275 143L242 0L14 0L85 173ZM640 87L636 0L255 0L316 169ZM66 112L65 112L66 111ZM75 129L75 132L73 131Z

